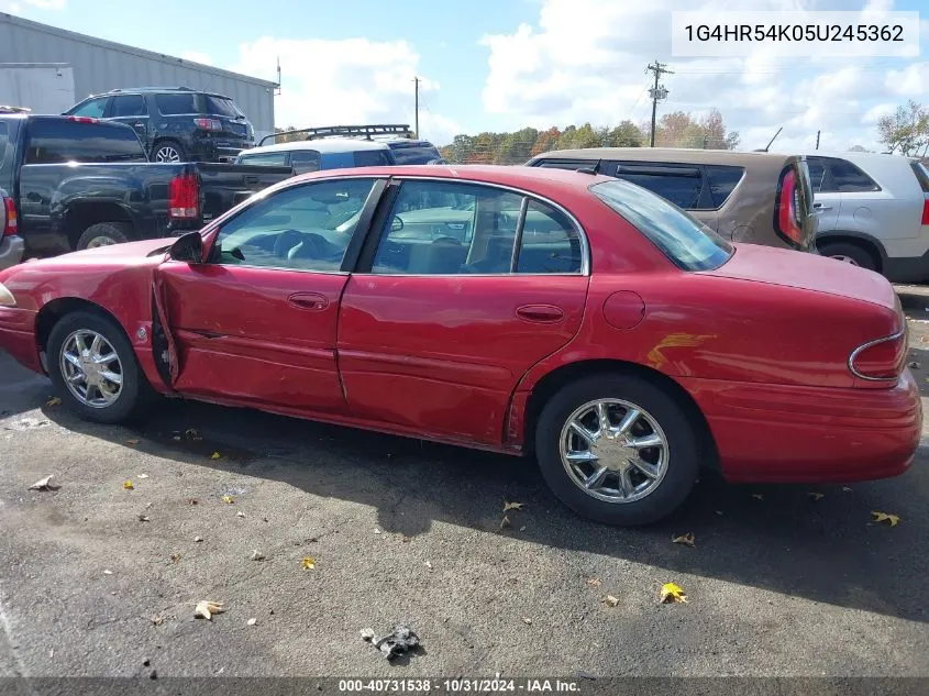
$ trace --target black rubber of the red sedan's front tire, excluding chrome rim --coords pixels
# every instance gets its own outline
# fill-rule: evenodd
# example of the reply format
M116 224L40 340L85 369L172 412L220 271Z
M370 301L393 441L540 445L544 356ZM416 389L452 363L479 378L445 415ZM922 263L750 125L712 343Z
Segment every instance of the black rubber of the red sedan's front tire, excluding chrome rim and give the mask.
M62 347L65 340L73 332L89 329L103 335L122 365L123 384L115 402L103 408L93 408L82 404L75 397L65 384L62 374ZM118 423L130 419L137 410L143 398L142 372L135 360L135 352L125 338L122 328L112 320L91 312L74 312L65 314L52 329L48 335L46 361L48 376L60 395L62 401L73 411L87 420L100 423Z

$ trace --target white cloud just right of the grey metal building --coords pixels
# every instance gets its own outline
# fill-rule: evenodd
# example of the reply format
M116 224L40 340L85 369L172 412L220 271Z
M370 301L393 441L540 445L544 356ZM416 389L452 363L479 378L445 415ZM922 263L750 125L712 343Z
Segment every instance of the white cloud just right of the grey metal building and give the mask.
M327 41L278 40L264 36L239 46L239 59L229 69L277 79L278 126L397 123L412 125L413 77L420 96L434 95L440 85L420 71L420 56L406 41L367 38ZM423 137L443 142L458 124L441 114L420 112Z

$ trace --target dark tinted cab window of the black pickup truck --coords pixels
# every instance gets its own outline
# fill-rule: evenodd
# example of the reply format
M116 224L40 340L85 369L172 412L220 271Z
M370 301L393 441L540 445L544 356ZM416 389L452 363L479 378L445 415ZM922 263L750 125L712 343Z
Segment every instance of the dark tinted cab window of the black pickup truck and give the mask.
M115 123L35 119L29 126L25 164L147 162L135 131Z

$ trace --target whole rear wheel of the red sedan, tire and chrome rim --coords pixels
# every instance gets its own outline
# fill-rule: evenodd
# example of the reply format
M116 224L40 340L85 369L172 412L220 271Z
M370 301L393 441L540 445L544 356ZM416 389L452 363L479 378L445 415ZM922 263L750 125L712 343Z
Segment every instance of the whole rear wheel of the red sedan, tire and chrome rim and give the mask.
M670 515L690 493L699 465L687 413L634 375L597 375L562 388L542 408L535 453L562 502L617 526Z

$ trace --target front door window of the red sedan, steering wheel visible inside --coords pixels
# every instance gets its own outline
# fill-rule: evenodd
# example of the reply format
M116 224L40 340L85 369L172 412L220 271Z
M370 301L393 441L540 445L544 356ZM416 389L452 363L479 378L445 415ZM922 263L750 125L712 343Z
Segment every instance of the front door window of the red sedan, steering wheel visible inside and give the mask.
M213 256L220 264L335 273L376 179L295 186L224 224Z

